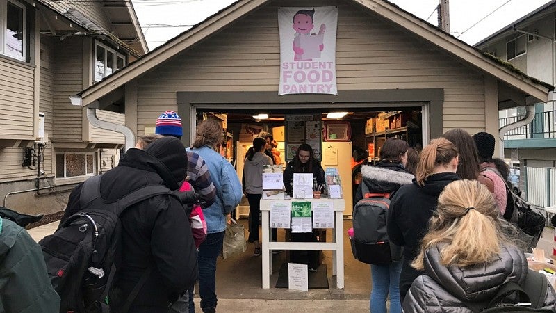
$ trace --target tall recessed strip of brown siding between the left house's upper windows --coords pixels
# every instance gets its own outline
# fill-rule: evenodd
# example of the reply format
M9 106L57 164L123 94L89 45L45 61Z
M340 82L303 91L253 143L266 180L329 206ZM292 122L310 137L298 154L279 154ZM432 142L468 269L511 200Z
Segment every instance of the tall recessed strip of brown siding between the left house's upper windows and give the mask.
M81 106L72 106L70 96L83 83L83 40L68 37L54 47L54 131L52 141L83 141Z

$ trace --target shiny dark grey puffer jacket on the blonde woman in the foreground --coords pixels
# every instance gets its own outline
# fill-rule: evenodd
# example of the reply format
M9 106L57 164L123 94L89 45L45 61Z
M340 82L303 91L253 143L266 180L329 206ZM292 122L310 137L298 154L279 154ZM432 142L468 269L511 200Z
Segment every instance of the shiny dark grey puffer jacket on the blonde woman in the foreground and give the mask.
M500 247L490 264L459 268L440 264L439 246L425 253L425 273L414 280L404 299L404 312L472 312L461 300L488 303L505 282L519 284L527 275L525 255L514 246ZM554 289L548 288L543 309L556 312Z

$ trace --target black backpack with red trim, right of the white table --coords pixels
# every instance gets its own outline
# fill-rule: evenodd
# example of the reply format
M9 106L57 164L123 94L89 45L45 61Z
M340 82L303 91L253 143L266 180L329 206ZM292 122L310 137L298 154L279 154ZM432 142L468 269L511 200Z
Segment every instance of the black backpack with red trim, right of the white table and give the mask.
M361 193L363 199L353 208L354 236L350 239L353 256L367 264L391 264L401 257L401 248L391 246L386 232L390 195L369 193L365 182L361 182Z

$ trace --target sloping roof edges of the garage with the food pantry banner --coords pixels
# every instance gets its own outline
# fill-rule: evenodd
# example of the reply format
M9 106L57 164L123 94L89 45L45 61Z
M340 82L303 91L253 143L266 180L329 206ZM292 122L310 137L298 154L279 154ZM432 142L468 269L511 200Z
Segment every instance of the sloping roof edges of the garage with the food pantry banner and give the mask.
M139 58L137 61L130 63L90 88L81 91L79 96L81 96L83 100L83 105L86 106L104 95L107 95L112 90L120 88L127 81L135 79L140 74L151 70L153 67L176 56L188 47L204 40L212 33L215 33L215 31L219 31L228 24L236 21L236 19L248 15L253 10L271 1L272 0L238 0L232 3L227 8L220 10L218 13L206 18L203 22L193 26L191 29L172 38L164 45L149 52L149 54L145 54L145 56L142 56L142 58ZM398 24L398 26L427 40L432 45L439 47L439 49L448 51L452 56L459 58L462 63L473 65L493 77L496 77L496 79L510 86L514 86L526 95L531 95L542 102L546 102L548 92L553 90L553 87L548 83L542 83L515 68L511 68L496 61L496 59L489 58L479 49L467 45L465 42L458 40L449 33L441 31L439 28L429 24L423 19L402 10L389 1L352 0L352 2L354 5L359 5L363 9L373 11L373 13L381 15L390 22Z

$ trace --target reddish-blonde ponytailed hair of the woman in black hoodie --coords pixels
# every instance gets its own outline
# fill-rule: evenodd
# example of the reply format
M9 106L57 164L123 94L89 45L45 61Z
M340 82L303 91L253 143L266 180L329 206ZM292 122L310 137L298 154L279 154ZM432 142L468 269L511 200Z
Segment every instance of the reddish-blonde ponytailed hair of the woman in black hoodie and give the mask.
M419 186L425 185L425 180L432 175L436 166L448 165L457 157L457 147L445 138L436 138L421 152L415 179Z

